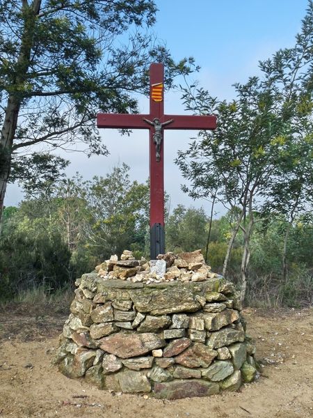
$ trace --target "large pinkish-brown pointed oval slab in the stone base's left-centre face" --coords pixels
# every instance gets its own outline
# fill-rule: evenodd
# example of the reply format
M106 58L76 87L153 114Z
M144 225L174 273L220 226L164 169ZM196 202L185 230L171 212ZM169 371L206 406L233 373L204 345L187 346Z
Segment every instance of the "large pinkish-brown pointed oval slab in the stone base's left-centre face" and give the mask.
M142 334L118 332L99 340L99 348L122 359L143 355L165 345L166 342L152 332Z

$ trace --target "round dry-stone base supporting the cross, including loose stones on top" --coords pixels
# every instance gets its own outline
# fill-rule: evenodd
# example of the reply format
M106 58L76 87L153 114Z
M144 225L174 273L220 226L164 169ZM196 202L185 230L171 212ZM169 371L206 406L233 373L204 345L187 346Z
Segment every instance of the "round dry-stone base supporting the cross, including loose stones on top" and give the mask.
M111 256L78 279L55 363L99 389L176 399L257 377L239 293L201 251Z

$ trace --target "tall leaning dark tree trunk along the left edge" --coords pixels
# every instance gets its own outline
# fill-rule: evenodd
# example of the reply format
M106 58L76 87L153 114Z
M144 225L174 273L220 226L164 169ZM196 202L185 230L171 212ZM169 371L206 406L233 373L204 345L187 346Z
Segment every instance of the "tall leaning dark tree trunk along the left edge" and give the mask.
M17 128L17 118L19 116L19 107L23 100L21 88L24 86L27 72L29 70L31 49L33 47L33 36L35 32L35 23L40 11L42 0L33 0L31 6L26 0L22 1L22 13L24 14L24 30L22 34L21 47L17 58L15 81L11 88L16 93L8 96L6 114L0 137L0 233L2 224L2 214L4 208L4 196L10 176L10 166L12 160L13 139Z

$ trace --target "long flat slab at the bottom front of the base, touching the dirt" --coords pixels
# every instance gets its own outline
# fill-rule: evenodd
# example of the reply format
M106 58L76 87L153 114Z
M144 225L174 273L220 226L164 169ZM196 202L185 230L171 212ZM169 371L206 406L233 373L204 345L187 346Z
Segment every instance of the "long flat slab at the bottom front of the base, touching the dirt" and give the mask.
M197 379L173 380L155 383L154 397L157 399L182 399L193 396L209 396L220 392L218 383Z

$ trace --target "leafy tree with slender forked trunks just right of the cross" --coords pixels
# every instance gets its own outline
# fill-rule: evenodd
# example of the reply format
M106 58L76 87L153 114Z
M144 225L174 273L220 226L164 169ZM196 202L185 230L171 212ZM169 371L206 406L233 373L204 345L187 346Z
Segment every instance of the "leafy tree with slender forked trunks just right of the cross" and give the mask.
M186 153L179 153L177 164L183 176L191 181L189 194L213 196L236 215L232 238L225 256L224 273L234 238L243 233L241 261L241 297L246 293L250 238L255 222L260 220L263 199L275 196L277 183L284 183L284 194L294 188L291 167L285 164L294 153L292 148L311 141L313 90L313 3L309 2L296 45L280 50L273 59L260 63L263 77L250 77L246 84L235 84L236 100L218 101L209 92L200 89L184 89L184 102L188 109L198 114L216 113L218 127L214 132L200 133ZM308 131L309 127L309 131ZM278 155L277 144L288 138L289 155ZM300 148L301 148L300 146ZM298 148L298 151L300 151ZM305 167L312 164L312 152ZM311 160L310 160L311 158ZM304 160L294 160L294 169ZM309 164L309 165L308 165ZM292 165L292 164L291 164ZM311 166L312 167L312 166ZM304 176L294 171L300 189L305 185ZM282 189L282 187L280 187ZM276 194L277 198L277 194ZM296 194L293 197L297 202ZM275 198L273 199L275 200ZM289 205L290 206L290 205Z

